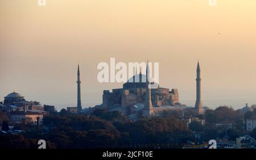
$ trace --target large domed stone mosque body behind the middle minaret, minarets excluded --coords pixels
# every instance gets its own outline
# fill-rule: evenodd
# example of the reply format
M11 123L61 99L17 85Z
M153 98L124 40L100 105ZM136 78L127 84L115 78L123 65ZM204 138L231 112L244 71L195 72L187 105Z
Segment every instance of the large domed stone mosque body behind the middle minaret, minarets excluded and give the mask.
M151 103L152 106L159 109L163 106L184 106L179 103L179 92L177 89L166 89L159 87L159 84L150 81L151 86ZM129 108L135 104L141 103L146 105L146 75L139 73L131 77L123 84L121 89L113 89L112 92L104 90L103 92L103 107L111 110L112 108ZM162 107L161 107L162 106ZM172 108L173 109L173 108ZM164 108L166 110L166 108ZM127 110L129 114L129 110Z

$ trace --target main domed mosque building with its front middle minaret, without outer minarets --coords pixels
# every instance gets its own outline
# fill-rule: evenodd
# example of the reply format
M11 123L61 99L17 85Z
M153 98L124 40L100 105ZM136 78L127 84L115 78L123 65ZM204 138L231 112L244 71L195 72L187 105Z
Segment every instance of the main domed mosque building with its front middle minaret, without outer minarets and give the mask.
M156 82L148 81L149 73L147 62L146 75L142 73L134 75L131 77L133 81L130 78L121 89L113 89L112 92L104 90L103 108L107 108L109 111L117 110L129 116L136 116L138 112L141 112L143 116L147 117L158 116L161 112L168 110L193 108L179 102L177 89L166 89L160 87ZM139 81L135 81L135 79ZM202 105L197 105L197 108L203 107Z

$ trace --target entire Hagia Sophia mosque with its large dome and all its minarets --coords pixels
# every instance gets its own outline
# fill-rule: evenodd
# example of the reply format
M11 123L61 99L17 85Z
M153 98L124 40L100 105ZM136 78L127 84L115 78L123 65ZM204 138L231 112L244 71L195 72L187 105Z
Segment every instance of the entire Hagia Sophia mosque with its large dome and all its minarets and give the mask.
M207 107L203 107L201 100L201 75L200 66L197 62L196 78L196 104L195 110L201 114ZM151 81L150 67L147 61L146 75L140 72L133 75L121 89L113 89L112 92L104 90L102 104L97 107L106 108L108 111L119 111L129 119L136 120L138 117L159 116L163 111L186 110L188 107L179 102L179 92L177 89L166 89L154 81ZM94 108L97 108L94 107ZM76 110L74 110L76 108ZM77 107L68 107L68 110L75 112L92 111L93 109L81 107L81 81L80 69L77 69Z

